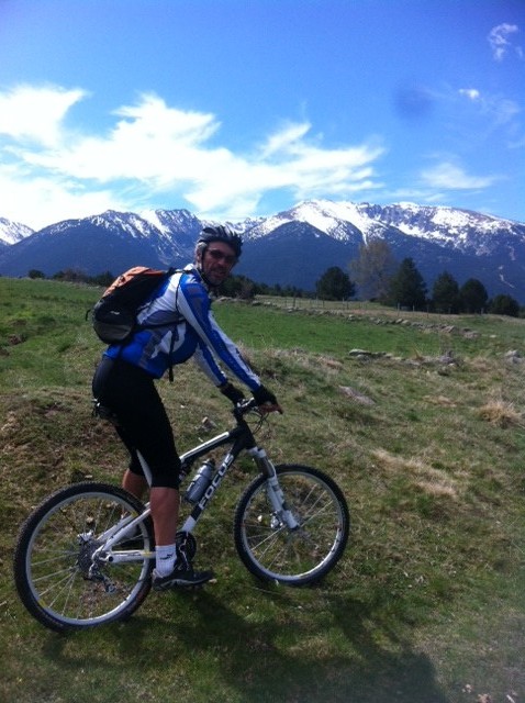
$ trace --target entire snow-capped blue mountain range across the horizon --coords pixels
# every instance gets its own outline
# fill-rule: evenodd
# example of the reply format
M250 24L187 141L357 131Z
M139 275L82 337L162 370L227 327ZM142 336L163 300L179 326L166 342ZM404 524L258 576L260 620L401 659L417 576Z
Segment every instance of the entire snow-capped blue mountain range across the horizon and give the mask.
M181 266L192 260L205 224L188 210L108 210L37 232L0 217L0 275L77 269L116 276L136 265ZM525 303L524 223L445 207L311 200L228 224L244 238L235 272L257 282L313 291L327 268L349 272L359 246L381 238L400 263L414 260L429 291L448 271L460 286L476 278L489 295L506 293Z

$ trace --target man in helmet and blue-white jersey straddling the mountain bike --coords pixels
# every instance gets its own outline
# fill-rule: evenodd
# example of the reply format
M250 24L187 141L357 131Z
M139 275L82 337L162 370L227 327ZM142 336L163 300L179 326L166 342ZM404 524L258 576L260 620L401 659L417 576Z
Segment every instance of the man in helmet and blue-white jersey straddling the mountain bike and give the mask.
M176 271L153 294L137 317L139 330L125 345L108 347L93 377L93 395L116 417L116 432L131 455L123 488L142 498L150 486L156 590L205 583L213 572L194 571L176 549L180 459L155 379L193 358L235 404L244 393L225 376L222 362L247 386L262 412L282 412L275 394L261 384L211 311L211 293L227 278L241 252L242 239L235 232L222 225L204 227L194 264ZM155 326L148 328L148 323Z

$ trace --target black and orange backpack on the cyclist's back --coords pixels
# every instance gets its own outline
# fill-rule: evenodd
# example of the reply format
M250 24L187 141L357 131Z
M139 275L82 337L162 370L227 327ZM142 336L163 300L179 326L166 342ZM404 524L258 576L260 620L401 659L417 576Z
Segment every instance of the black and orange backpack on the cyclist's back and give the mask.
M87 313L91 312L91 322L99 339L105 344L125 344L141 328L136 321L141 308L176 270L170 268L161 271L135 266L121 274Z

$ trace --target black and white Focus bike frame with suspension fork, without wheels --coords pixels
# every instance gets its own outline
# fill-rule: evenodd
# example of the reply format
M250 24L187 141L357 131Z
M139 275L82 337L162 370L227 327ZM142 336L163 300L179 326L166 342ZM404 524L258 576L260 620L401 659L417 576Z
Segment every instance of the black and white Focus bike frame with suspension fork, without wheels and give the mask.
M183 535L189 535L193 532L200 517L202 516L202 513L206 510L211 499L221 486L228 469L243 451L246 451L254 459L260 473L267 477L268 499L273 511L279 515L279 517L289 529L293 531L299 528L299 522L295 520L292 512L287 506L273 464L268 458L266 450L257 446L254 434L246 420L244 420L243 415L250 408L253 408L252 404L236 406L233 411L234 416L237 421L235 427L197 445L196 447L189 449L180 456L181 477L183 479L188 476L192 465L197 459L206 456L210 451L216 449L217 447L222 447L227 444L232 445L224 455L219 467L215 469L210 486L204 492L204 495L193 506L190 515L188 515L182 527L180 528L179 532L181 532ZM141 464L143 465L146 477L149 476L149 468L144 457L142 457L139 453L138 458L141 460ZM99 539L102 540L102 544L93 554L93 558L99 558L102 561L110 561L112 563L137 561L139 559L144 559L145 556L153 559L155 557L155 551L145 553L144 550L137 549L113 551L113 546L122 542L124 537L129 537L130 535L132 535L134 528L138 524L144 522L144 520L146 520L149 514L150 506L149 503L146 503L144 511L138 516L127 516L119 521L119 523L116 523L113 527L108 529L103 535L99 537Z

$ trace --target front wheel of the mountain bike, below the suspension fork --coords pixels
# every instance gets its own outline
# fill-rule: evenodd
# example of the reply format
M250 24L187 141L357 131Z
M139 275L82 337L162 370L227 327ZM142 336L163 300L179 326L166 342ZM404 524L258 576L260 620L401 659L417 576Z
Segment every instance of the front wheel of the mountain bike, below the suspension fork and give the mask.
M319 469L276 467L287 506L299 521L289 529L268 500L265 476L247 487L235 510L234 540L250 573L265 581L302 587L331 571L345 551L350 517L343 491Z

